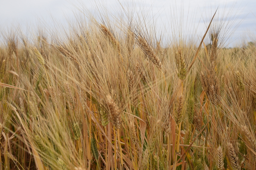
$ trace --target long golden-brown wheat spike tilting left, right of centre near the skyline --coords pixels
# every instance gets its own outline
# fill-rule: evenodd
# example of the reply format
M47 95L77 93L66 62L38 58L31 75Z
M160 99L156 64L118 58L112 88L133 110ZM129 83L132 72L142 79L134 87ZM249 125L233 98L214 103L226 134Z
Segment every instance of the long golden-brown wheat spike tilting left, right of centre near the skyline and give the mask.
M158 56L154 53L154 51L150 48L150 46L147 44L147 41L142 38L138 37L139 44L143 50L143 52L148 56L148 58L156 65L157 68L161 70L162 63Z

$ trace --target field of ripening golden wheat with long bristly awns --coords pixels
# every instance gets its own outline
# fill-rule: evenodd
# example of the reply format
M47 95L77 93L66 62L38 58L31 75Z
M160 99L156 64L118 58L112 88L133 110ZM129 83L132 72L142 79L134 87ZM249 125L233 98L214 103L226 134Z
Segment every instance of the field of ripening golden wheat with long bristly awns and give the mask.
M224 48L212 17L168 46L91 16L2 35L0 170L256 169L256 45Z

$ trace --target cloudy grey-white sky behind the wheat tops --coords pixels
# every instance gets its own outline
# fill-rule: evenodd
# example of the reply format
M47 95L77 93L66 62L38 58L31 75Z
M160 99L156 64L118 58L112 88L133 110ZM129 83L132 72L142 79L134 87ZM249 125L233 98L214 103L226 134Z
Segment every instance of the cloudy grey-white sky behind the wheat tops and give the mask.
M171 0L155 0L155 1L141 1L141 0L0 0L0 30L8 31L10 28L15 28L18 25L24 32L27 28L36 27L40 22L51 23L52 18L59 21L62 24L66 24L66 18L72 17L74 11L77 11L77 7L80 8L81 2L91 12L96 11L96 5L104 4L110 11L118 13L120 4L133 4L133 6L150 10L151 14L161 18L161 22L168 23L168 16L173 14L173 4L184 7L184 13L187 11L194 11L196 17L195 25L199 24L202 30L205 27L202 16L204 14L212 15L214 9L219 7L219 12L222 13L226 8L226 13L233 7L231 16L238 17L234 23L234 26L240 24L233 34L233 39L247 39L256 40L256 2L255 0L184 0L171 1ZM72 4L76 4L75 6ZM147 9L148 8L148 9ZM212 9L212 11L210 10ZM200 19L201 18L201 19ZM208 17L209 18L209 17ZM209 20L209 19L208 19ZM240 23L241 22L241 23ZM171 24L171 23L169 23ZM200 29L199 29L200 30ZM252 37L248 38L248 34L252 33ZM255 38L255 39L254 39ZM236 41L237 42L237 41Z

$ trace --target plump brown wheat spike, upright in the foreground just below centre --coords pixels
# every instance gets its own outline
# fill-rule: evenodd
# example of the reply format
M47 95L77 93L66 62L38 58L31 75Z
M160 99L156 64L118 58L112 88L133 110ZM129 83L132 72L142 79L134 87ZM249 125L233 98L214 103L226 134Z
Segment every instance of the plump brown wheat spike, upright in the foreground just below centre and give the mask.
M116 103L114 102L114 100L112 99L112 97L110 95L106 96L106 104L109 107L109 119L110 121L113 123L113 125L119 129L120 125L122 123L122 114L120 109L118 108L118 106L116 105Z

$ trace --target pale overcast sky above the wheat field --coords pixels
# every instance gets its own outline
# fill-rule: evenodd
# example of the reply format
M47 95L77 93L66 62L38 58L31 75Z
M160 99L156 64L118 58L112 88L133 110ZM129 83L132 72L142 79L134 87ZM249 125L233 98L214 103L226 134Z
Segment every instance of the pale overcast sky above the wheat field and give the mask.
M97 10L97 7L105 6L110 13L117 15L122 6L125 8L132 6L132 9L144 10L151 16L154 15L156 23L159 23L158 26L166 25L164 26L165 31L169 31L169 27L175 27L173 26L173 18L175 18L173 16L178 16L175 20L176 23L188 18L186 21L190 26L195 26L200 33L205 30L209 18L218 7L218 16L221 17L224 14L224 16L229 16L229 20L232 21L232 24L227 24L228 28L232 28L229 33L226 33L226 36L229 37L228 46L236 46L241 41L256 40L255 0L0 0L0 4L0 31L2 32L19 27L26 33L31 29L36 30L40 23L51 25L54 21L65 25L67 18L72 18L74 13L79 13L79 9L82 8L87 8L95 14L97 11L101 11L101 9ZM176 15L176 13L181 14L181 12L177 12L181 7L183 7L183 18ZM187 29L187 31L190 30Z

